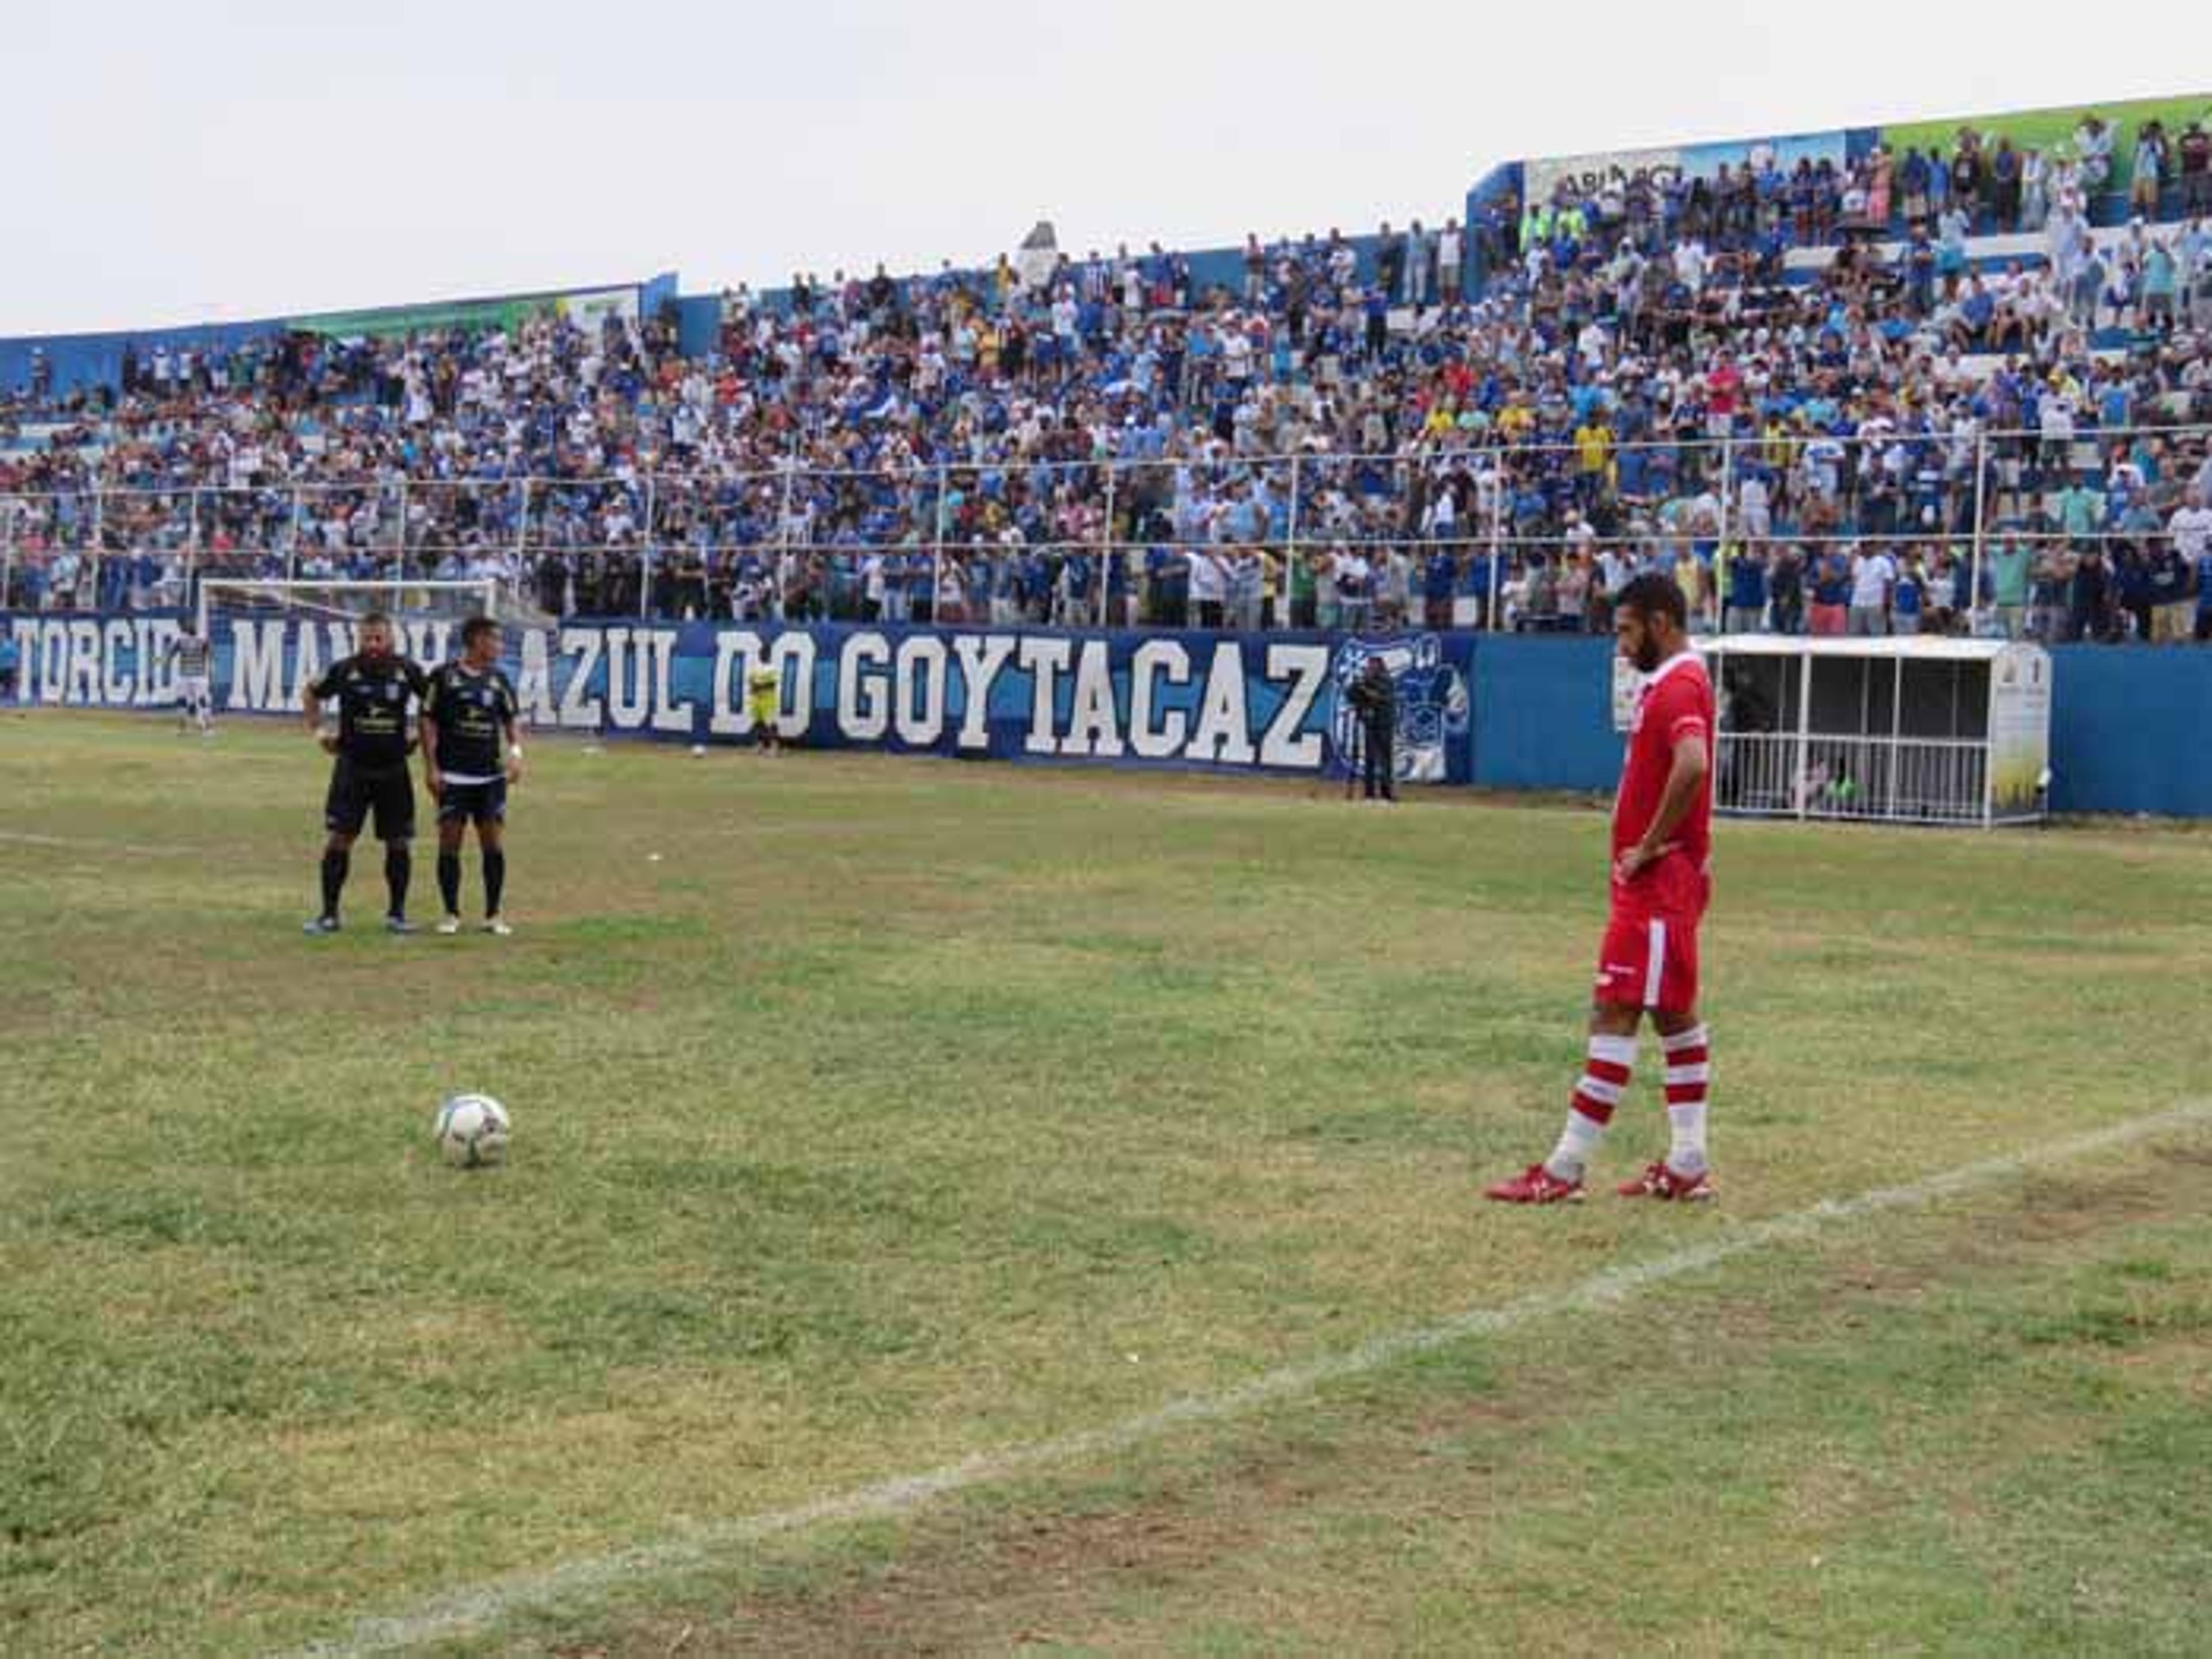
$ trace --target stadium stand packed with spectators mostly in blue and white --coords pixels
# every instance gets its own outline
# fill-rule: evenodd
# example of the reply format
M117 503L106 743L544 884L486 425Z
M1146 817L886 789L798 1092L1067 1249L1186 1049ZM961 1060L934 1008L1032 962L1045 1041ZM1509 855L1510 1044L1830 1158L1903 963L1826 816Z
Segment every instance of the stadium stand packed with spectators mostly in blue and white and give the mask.
M2201 122L2090 115L1515 168L1436 232L799 276L688 352L672 305L157 343L66 394L33 349L0 606L405 573L546 615L1579 630L1666 566L1703 626L2203 639L2208 166Z

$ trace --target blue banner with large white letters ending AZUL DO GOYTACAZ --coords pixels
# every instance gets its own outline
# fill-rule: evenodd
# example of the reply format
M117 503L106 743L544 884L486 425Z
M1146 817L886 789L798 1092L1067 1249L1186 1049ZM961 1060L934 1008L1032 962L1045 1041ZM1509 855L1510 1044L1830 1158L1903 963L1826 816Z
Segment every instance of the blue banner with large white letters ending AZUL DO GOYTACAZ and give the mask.
M175 701L177 615L20 615L7 630L31 701ZM215 703L228 712L299 710L354 648L345 619L217 613L210 633ZM458 644L451 619L400 619L416 661L445 661ZM504 650L533 730L743 743L754 737L748 690L774 675L776 732L812 748L1310 774L1343 768L1352 710L1340 692L1380 661L1396 690L1398 779L1473 781L1467 633L571 622L509 628Z

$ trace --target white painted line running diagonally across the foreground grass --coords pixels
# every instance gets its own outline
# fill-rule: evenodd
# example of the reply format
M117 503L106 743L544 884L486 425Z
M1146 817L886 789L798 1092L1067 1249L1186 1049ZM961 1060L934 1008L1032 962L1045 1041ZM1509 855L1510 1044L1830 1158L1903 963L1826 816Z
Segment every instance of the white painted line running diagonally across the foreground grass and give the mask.
M1383 1367L1396 1365L1416 1354L1464 1343L1473 1336L1498 1336L1520 1325L1562 1314L1610 1312L1652 1285L1686 1279L1705 1267L1714 1267L1736 1256L1750 1256L1774 1245L1814 1239L1860 1217L1887 1210L1913 1210L1936 1199L1947 1199L1975 1188L1997 1186L2039 1164L2064 1164L2090 1152L2108 1152L2132 1146L2154 1135L2192 1128L2212 1121L2212 1099L2188 1102L2150 1117L2135 1117L2112 1128L2051 1141L2024 1152L1962 1164L1940 1175L1929 1175L1907 1186L1876 1188L1851 1199L1827 1199L1809 1210L1752 1221L1730 1230L1721 1239L1694 1243L1650 1261L1632 1261L1624 1267L1606 1267L1566 1290L1535 1292L1495 1307L1471 1307L1464 1314L1433 1325L1413 1325L1363 1343L1345 1354L1332 1354L1301 1365L1285 1365L1276 1371L1252 1378L1221 1394L1201 1394L1152 1411L1139 1411L1099 1429L1084 1429L1055 1440L1037 1440L1026 1447L1004 1447L984 1451L960 1462L925 1469L909 1475L894 1475L869 1486L858 1486L827 1498L816 1498L796 1509L776 1509L759 1515L701 1526L677 1533L653 1544L564 1562L538 1573L513 1573L487 1584L440 1595L409 1613L380 1619L363 1619L347 1635L296 1648L290 1659L367 1659L369 1655L398 1652L442 1637L482 1630L511 1613L542 1608L566 1597L608 1590L622 1584L655 1579L699 1566L708 1557L723 1555L745 1544L757 1544L785 1533L805 1533L814 1526L838 1526L863 1520L883 1520L927 1509L940 1498L975 1486L989 1486L1015 1475L1026 1475L1053 1464L1082 1462L1104 1453L1126 1451L1190 1425L1237 1418L1265 1405L1296 1400L1316 1389L1340 1383Z

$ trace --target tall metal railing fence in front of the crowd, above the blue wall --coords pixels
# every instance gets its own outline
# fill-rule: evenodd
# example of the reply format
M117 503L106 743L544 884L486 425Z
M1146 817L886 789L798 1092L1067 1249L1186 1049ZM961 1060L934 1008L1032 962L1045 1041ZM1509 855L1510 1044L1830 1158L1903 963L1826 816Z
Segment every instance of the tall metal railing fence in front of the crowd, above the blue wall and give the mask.
M2035 595L2053 608L2088 553L2185 540L2172 509L2212 484L2212 427L2097 427L2059 405L2037 429L1854 438L1772 420L1624 442L1593 420L1540 445L1515 425L1442 422L1394 453L1219 440L876 471L18 491L0 493L0 604L184 604L212 571L491 577L553 615L1582 628L1604 622L1610 553L1677 568L1701 624L1728 626L1732 562L1787 549L1796 599L1763 597L1761 622L1790 626L1834 580L1823 553L1887 549L1924 560L1947 599L1931 611L1964 626Z

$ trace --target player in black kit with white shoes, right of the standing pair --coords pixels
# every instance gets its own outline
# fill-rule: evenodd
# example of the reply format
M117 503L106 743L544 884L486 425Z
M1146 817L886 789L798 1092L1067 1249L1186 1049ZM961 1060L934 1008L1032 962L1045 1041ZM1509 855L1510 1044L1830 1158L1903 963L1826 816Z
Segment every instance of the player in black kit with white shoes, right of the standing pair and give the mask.
M460 843L476 825L484 856L484 931L507 936L500 898L507 891L507 785L522 781L515 741L515 688L500 672L500 624L460 624L460 661L429 677L422 699L422 781L438 803L440 933L460 931Z

